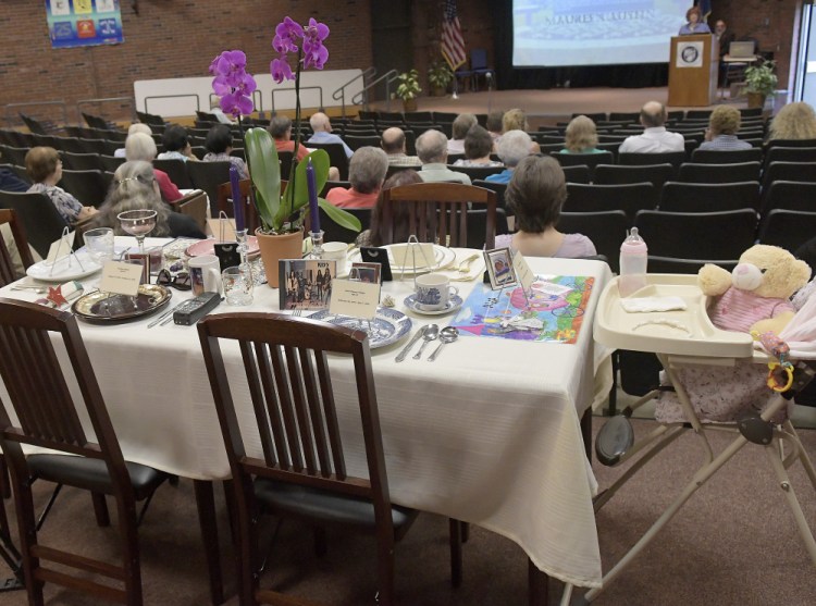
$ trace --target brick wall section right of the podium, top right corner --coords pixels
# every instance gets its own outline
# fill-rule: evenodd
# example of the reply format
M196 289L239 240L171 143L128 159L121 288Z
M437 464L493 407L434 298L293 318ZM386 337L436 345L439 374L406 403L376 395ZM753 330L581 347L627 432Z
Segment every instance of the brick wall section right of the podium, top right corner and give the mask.
M737 35L759 41L761 51L771 51L777 61L779 88L788 87L791 45L794 37L798 0L716 0L712 2L708 24L714 28L718 18L728 23Z

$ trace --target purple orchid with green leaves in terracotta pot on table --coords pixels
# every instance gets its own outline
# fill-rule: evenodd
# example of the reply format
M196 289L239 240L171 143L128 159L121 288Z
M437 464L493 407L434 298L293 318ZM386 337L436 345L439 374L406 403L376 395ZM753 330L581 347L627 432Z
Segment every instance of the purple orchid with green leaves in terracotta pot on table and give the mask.
M300 71L314 66L323 69L329 51L323 40L329 36L329 27L309 20L300 26L285 17L275 28L272 40L279 55L270 64L273 79L281 84L284 79L295 81L295 149L297 157L300 144ZM296 66L293 73L288 53L296 52ZM221 108L232 113L240 122L240 115L251 113L249 97L255 90L255 81L246 73L246 55L240 51L224 51L210 65L215 75L213 90L221 97ZM251 84L249 84L251 79ZM244 147L252 182L255 205L261 226L256 231L261 259L267 271L267 281L273 288L279 286L279 260L302 256L304 224L309 218L312 239L322 242L318 208L322 208L332 221L349 230L360 231L360 221L353 214L318 197L329 175L329 154L318 149L299 163L292 163L289 180L281 195L281 165L272 135L265 128L249 128L244 134ZM233 196L235 199L235 195ZM237 209L237 207L236 207ZM238 213L236 212L236 223ZM236 225L236 228L238 226Z

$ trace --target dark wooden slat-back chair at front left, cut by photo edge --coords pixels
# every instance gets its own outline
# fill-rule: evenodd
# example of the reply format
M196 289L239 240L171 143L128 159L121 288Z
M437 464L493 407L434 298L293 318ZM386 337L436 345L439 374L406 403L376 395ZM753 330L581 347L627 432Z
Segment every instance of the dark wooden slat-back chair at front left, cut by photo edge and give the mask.
M51 335L61 338L69 363L58 361ZM67 311L0 298L0 376L9 393L8 401L0 405L0 447L9 461L14 487L28 603L41 606L44 584L54 583L128 606L140 605L136 503L149 502L166 474L126 462L122 457L76 318ZM69 389L73 383L79 386L81 397L76 400ZM16 424L7 406L16 415ZM89 441L82 418L89 419L96 442ZM60 454L26 457L23 445ZM41 542L32 494L36 479L90 491L99 495L95 496L95 507L104 505L103 495L112 495L122 564ZM66 569L82 574L72 576ZM96 578L88 578L88 573ZM99 582L99 578L104 582Z

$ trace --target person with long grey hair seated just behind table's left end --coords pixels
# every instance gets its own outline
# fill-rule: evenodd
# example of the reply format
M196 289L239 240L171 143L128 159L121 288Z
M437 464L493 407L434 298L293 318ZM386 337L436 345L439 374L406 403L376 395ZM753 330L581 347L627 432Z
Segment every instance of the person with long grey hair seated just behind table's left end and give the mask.
M153 166L149 162L127 161L113 174L113 183L108 191L99 214L91 222L92 227L112 227L118 236L126 236L116 215L126 210L149 209L157 212L152 237L205 238L196 221L181 212L175 212L161 201L159 184Z

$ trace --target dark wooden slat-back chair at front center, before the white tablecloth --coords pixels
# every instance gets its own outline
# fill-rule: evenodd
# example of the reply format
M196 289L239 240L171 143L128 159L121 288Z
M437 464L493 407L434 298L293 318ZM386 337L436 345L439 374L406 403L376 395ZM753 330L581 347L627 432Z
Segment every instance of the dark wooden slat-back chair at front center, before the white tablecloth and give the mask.
M394 604L394 544L418 512L391 503L366 333L276 313L224 313L201 320L198 335L233 478L240 603L280 604L259 585L258 515L265 512L375 535L380 604ZM240 351L248 395L233 392L233 360L222 348ZM336 356L353 364L343 373L355 383L347 407L333 391ZM351 433L341 431L341 417ZM366 456L355 467L351 434L361 436ZM247 442L258 438L259 452L249 452Z

